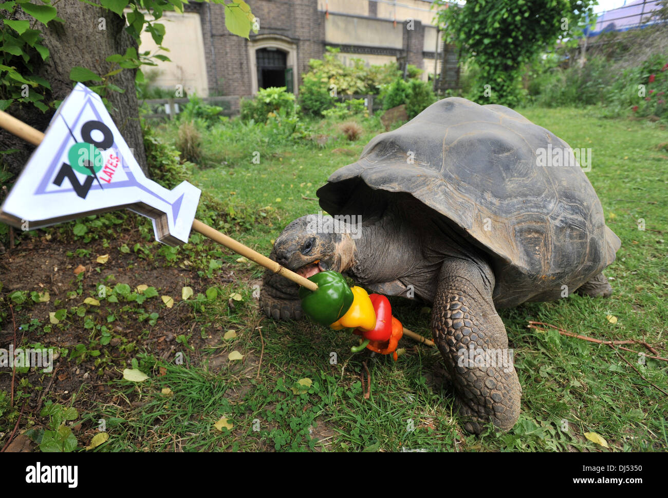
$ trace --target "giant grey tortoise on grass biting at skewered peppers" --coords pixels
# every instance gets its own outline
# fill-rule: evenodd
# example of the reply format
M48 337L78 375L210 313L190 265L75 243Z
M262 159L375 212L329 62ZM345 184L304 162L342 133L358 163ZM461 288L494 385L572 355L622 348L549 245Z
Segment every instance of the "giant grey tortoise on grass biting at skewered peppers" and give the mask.
M373 138L317 191L335 219L361 215L359 237L340 226L317 233L309 215L287 225L271 257L305 276L333 269L374 292L433 303L464 428L479 433L491 420L508 430L522 388L512 364L494 362L508 352L496 309L612 291L601 272L621 243L573 158L509 108L446 98ZM267 316L303 316L295 284L273 273L264 284Z

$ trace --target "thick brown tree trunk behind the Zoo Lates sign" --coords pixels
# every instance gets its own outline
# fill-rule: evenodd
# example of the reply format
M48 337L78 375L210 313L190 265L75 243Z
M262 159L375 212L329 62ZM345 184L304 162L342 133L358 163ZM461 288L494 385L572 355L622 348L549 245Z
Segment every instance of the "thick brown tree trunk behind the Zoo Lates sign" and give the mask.
M74 66L83 66L104 76L112 71L114 66L118 68L117 64L106 62L107 57L114 53L124 54L128 47L137 47L134 39L124 29L125 17L79 0L60 0L54 5L58 17L64 19L65 23L51 21L48 26L38 23L39 27L36 28L41 29L42 44L49 49L46 61L35 66L35 74L51 84L51 92L49 94L47 91L45 96L46 102L63 100L71 92L74 83L69 79L69 71ZM34 21L23 11L18 11L14 17ZM103 24L106 29L100 29ZM39 55L35 54L35 57L39 59ZM111 115L116 126L128 146L134 149L134 156L146 173L146 154L134 86L135 74L136 70L124 69L112 76L110 82L123 88L125 92L109 92L106 97L114 108ZM7 112L40 131L46 130L54 113L52 110L43 113L32 105L19 104L13 104ZM0 150L5 149L19 150L0 156L9 171L18 174L35 148L5 130L0 130Z

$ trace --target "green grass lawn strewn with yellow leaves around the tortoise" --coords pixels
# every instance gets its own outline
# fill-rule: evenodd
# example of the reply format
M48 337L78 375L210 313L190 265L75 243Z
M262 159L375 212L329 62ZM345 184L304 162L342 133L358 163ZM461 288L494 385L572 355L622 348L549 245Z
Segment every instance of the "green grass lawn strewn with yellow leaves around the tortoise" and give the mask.
M147 258L159 271L201 267L197 285L202 292L216 287L216 295L224 298L202 298L190 306L178 300L175 308L183 316L177 325L185 332L174 332L183 339L171 354L183 351L185 365L157 354L142 342L144 336L138 337L122 363L135 358L150 378L140 384L110 380L102 398L88 396L90 402L79 407L79 422L90 430L79 437L79 447L88 445L102 419L110 437L96 451L607 451L585 437L589 432L605 439L611 451L668 450L668 403L661 392L668 391L668 362L639 355L649 352L638 344L629 346L637 352L613 350L556 330L527 328L533 320L601 340L645 340L657 356L668 357L665 124L604 120L595 109L520 112L572 148L592 149L587 176L622 247L605 271L615 289L611 298L572 295L501 310L523 389L522 414L510 432L490 428L479 437L463 432L438 350L402 340L405 353L393 362L366 350L351 354L350 346L357 344L353 338L310 322L263 318L253 297L263 271L197 237L173 253L146 243L147 251L160 251L154 260ZM228 223L232 237L269 254L285 225L319 211L313 198L327 176L353 162L381 131L377 120L361 124L363 134L354 142L343 138L337 124L313 124L321 142L331 137L324 146L281 140L258 132L257 126L214 127L203 135L210 166L194 168L190 181L232 218L246 220ZM176 130L157 134L172 140ZM240 299L227 298L234 293ZM21 313L29 318L31 308ZM393 314L407 328L431 336L430 309L393 299ZM153 327L161 323L154 320ZM8 324L5 315L5 331ZM228 330L234 334L224 339ZM204 342L193 348L199 336ZM44 334L40 340L48 338ZM232 351L242 360L228 360ZM110 361L108 368L122 370L122 364ZM51 394L77 406L61 392ZM2 408L0 397L0 421ZM30 420L46 423L37 414ZM224 427L215 428L215 422ZM6 433L0 446L5 441Z

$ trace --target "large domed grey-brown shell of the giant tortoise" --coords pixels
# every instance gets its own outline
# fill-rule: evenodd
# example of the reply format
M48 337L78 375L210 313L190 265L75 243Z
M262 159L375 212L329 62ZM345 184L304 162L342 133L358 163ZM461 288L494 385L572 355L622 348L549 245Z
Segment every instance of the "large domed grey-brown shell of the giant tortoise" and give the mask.
M567 165L544 162L558 150ZM570 293L615 261L621 245L568 144L504 106L432 104L331 174L317 191L322 209L346 214L359 182L412 195L486 251L497 307L558 299L563 285Z

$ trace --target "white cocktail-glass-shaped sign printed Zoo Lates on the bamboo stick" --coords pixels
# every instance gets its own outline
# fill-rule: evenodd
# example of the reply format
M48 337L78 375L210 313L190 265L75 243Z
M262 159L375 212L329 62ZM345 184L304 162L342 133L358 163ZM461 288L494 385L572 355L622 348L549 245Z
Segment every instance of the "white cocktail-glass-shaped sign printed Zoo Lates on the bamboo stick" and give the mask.
M158 241L188 242L200 189L169 191L142 172L102 99L77 83L59 106L0 211L0 220L33 230L88 215L130 209L153 220Z

